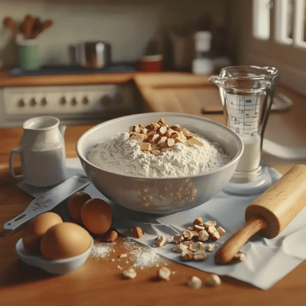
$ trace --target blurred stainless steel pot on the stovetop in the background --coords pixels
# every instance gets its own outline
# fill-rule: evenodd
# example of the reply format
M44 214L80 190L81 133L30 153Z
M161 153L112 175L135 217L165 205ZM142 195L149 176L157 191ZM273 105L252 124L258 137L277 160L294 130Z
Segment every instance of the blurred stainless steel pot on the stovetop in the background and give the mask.
M78 43L69 46L69 55L71 64L102 68L111 63L111 45L103 41Z

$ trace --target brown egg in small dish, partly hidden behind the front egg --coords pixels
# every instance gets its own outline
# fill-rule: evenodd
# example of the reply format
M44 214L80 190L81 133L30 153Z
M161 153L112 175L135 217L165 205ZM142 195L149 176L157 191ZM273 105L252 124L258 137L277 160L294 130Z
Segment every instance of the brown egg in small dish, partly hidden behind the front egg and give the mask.
M50 227L58 223L63 223L63 220L54 212L45 212L32 219L22 235L24 248L29 252L38 253L40 251L41 238Z

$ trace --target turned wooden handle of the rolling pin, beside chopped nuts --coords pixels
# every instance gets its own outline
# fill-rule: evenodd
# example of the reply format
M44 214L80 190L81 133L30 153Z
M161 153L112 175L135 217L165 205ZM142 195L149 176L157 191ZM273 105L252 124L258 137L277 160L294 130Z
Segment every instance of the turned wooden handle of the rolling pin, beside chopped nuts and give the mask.
M267 219L260 215L254 215L215 254L215 263L229 263L239 252L240 248L260 230L267 228Z

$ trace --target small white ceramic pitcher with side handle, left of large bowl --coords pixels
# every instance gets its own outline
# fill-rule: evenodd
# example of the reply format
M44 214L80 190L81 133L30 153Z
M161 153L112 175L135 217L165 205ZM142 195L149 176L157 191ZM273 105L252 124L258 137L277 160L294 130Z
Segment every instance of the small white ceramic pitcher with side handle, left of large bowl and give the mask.
M55 117L35 117L24 121L23 135L19 148L11 151L9 168L15 178L35 187L58 185L65 180L65 141L66 126L59 127ZM13 169L13 156L19 154L21 175Z

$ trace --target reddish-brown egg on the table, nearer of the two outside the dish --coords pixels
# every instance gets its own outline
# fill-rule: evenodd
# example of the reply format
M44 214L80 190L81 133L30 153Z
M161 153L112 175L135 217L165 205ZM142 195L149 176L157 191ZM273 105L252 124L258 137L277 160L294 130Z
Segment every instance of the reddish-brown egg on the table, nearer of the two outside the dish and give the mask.
M112 212L109 205L101 199L91 199L81 209L84 226L94 234L104 234L112 223Z

